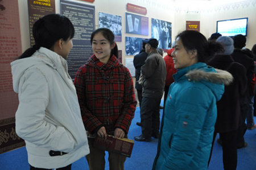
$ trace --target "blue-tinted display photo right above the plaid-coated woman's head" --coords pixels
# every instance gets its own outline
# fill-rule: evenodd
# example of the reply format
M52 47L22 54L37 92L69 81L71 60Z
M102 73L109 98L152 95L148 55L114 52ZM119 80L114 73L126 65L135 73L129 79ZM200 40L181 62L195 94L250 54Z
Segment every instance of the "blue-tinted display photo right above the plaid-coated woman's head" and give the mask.
M115 42L122 42L122 16L99 12L98 27L109 28L115 35Z

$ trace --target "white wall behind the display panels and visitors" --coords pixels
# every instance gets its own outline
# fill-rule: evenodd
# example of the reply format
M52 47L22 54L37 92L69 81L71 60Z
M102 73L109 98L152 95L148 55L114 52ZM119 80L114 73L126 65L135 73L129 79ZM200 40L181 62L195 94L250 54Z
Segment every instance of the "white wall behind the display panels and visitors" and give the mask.
M118 48L122 49L122 61L125 63L125 36L139 38L151 38L151 18L166 20L172 23L172 40L175 36L185 30L186 20L200 20L200 32L206 38L216 32L217 20L249 18L248 36L246 48L251 49L256 43L256 0L241 0L240 2L214 4L211 1L177 1L177 0L95 0L94 3L73 0L77 2L88 3L95 6L96 28L98 28L98 12L109 13L122 16L122 42L117 42ZM180 2L181 1L181 2ZM26 0L18 0L20 14L20 31L22 35L22 51L30 47L28 7ZM225 2L223 0L222 2ZM146 7L149 22L148 36L125 34L125 12L126 4ZM59 0L55 0L56 13L59 13ZM140 14L138 14L140 15Z

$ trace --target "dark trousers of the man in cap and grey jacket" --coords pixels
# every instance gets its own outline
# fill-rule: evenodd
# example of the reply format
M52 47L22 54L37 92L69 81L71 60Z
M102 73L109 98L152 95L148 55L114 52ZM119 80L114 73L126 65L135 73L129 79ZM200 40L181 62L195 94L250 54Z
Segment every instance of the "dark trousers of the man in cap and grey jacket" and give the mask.
M158 134L160 127L161 97L143 97L141 105L141 128L145 138L151 138L151 134Z

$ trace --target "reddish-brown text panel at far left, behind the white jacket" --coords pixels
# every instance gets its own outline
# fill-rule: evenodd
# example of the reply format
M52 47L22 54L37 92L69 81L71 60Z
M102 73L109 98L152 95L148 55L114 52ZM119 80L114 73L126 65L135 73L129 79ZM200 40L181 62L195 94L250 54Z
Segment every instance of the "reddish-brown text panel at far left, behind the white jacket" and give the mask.
M0 7L0 154L3 154L25 143L15 132L19 100L13 90L10 64L22 54L18 1L2 1Z

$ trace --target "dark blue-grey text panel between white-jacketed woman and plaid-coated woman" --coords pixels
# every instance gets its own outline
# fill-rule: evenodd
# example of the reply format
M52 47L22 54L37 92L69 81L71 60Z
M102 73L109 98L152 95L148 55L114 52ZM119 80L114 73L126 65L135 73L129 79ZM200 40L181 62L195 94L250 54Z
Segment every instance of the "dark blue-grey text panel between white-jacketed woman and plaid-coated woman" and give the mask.
M95 7L86 3L60 0L60 14L75 27L73 48L68 55L68 73L75 79L78 69L93 55L90 35L95 30Z

